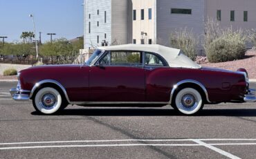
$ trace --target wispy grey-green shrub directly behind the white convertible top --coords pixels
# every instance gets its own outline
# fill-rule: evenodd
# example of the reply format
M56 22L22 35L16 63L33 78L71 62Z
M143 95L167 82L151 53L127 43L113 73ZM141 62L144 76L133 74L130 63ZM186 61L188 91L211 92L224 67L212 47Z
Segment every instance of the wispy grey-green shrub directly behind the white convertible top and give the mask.
M170 36L171 46L183 50L183 53L190 57L190 59L196 59L196 39L192 33L192 30L181 29L171 33Z

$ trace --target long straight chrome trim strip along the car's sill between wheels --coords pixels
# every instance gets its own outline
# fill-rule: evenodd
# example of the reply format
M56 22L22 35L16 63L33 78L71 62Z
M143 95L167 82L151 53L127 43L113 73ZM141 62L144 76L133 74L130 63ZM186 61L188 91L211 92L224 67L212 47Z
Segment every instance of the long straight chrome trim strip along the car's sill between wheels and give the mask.
M168 102L70 102L70 104L168 104Z

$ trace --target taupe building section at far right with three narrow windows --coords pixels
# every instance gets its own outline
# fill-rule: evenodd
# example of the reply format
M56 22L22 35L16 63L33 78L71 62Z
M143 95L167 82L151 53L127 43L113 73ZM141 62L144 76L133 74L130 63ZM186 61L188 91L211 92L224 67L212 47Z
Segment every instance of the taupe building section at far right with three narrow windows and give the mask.
M206 16L218 17L221 26L256 28L255 0L206 0L205 8Z

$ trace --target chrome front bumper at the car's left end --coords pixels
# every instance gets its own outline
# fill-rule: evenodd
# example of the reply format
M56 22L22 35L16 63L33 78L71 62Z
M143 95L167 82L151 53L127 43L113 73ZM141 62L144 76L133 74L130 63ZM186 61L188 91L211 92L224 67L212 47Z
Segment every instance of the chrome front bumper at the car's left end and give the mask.
M26 101L29 100L30 91L20 90L19 88L11 88L10 95L12 95L12 99L16 101Z

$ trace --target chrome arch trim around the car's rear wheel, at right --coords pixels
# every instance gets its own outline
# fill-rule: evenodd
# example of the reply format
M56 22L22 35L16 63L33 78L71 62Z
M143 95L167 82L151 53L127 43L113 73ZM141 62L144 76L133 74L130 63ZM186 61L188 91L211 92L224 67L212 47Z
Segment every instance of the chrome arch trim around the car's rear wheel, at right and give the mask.
M174 95L174 92L176 91L176 88L178 88L181 84L187 84L187 83L192 83L192 84L196 84L196 85L200 86L203 89L203 92L205 93L205 97L206 97L207 102L210 103L210 100L209 100L209 97L208 97L208 92L207 92L205 86L203 86L203 84L201 84L200 82L198 82L196 80L193 80L193 79L185 79L185 80L182 80L182 81L176 83L172 87L172 92L171 92L171 95L170 95L169 104L172 104L172 97Z

